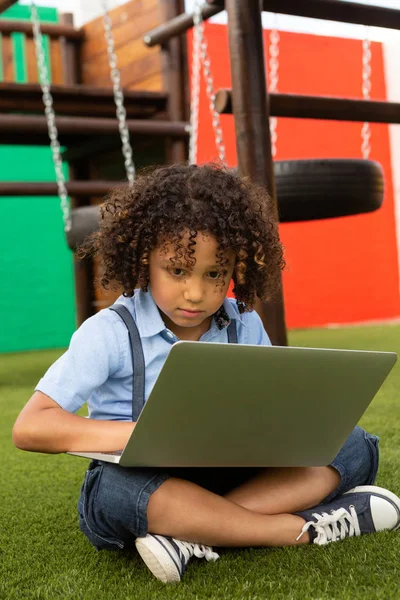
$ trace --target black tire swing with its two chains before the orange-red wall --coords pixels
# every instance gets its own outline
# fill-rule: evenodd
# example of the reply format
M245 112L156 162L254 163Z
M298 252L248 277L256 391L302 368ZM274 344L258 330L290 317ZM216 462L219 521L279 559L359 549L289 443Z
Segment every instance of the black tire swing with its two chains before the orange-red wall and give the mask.
M276 16L275 16L276 18ZM277 92L279 33L270 33L269 91ZM362 92L370 99L371 45L363 41ZM270 118L272 156L276 155L277 119ZM363 159L280 160L274 162L279 220L281 223L331 219L373 212L382 206L383 172L368 160L371 129L361 131Z

